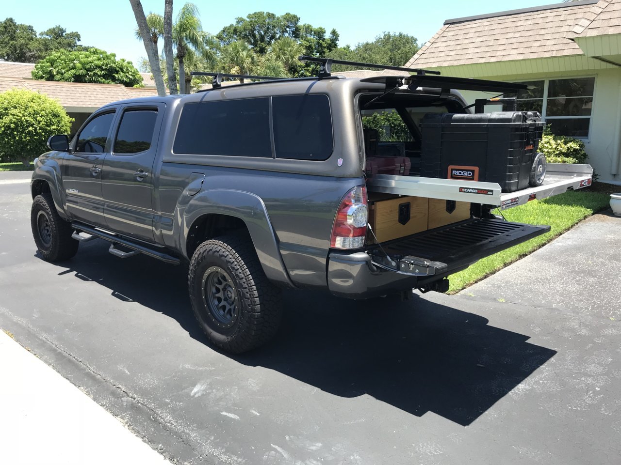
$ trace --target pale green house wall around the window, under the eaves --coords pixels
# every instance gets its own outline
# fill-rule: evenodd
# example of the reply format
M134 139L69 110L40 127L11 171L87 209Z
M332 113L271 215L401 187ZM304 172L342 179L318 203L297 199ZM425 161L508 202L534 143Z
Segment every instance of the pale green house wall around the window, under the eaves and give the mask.
M621 68L472 77L495 81L532 81L579 76L596 77L591 131L589 139L584 141L586 153L589 154L587 161L599 174L600 180L621 183ZM462 92L462 95L468 104L473 104L474 99L492 96L483 92ZM498 111L499 107L491 105L487 110Z

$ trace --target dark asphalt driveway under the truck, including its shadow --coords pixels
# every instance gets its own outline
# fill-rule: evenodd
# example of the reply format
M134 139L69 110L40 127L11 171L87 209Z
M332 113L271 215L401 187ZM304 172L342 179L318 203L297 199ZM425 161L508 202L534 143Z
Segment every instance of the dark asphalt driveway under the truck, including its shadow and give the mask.
M621 218L456 296L288 292L273 343L232 357L197 329L183 266L102 241L43 262L28 177L0 173L0 327L171 461L619 463Z

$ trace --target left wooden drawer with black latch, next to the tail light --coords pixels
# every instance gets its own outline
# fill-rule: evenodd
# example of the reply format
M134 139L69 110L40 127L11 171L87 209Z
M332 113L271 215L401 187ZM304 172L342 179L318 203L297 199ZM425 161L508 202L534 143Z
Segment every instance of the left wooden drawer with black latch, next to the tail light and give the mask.
M399 197L389 200L379 200L369 208L369 223L379 242L391 241L399 237L410 236L427 229L428 198ZM399 210L409 208L409 219L402 211L402 221L399 223ZM369 242L373 235L369 234Z

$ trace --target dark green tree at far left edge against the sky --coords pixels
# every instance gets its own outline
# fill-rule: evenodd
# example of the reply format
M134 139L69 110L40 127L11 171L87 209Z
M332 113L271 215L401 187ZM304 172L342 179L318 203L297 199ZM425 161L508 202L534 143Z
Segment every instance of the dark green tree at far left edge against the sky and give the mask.
M40 56L37 32L28 24L7 18L0 22L0 58L5 61L35 63Z

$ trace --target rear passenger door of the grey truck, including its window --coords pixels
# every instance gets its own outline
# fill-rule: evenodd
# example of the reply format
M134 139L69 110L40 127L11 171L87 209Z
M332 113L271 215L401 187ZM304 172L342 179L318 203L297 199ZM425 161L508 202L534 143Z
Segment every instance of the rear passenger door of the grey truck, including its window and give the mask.
M112 231L154 242L153 168L164 104L122 108L102 173L104 216Z

